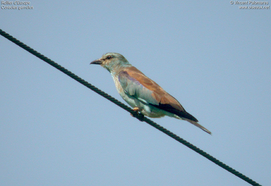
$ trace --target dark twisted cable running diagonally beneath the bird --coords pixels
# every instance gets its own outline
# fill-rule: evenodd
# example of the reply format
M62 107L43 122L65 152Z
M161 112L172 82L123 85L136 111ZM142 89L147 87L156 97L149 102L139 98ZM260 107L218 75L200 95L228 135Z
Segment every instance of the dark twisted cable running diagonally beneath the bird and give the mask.
M25 45L24 43L22 43L21 41L19 41L18 39L12 37L11 35L9 35L8 33L4 32L3 30L0 29L0 35L2 35L3 37L9 39L10 41L12 41L13 43L15 43L16 45L18 45L19 47L25 49L26 51L30 52L31 54L33 54L34 56L40 58L41 60L45 61L46 63L50 64L51 66L55 67L56 69L60 70L61 72L63 72L64 74L67 74L68 76L70 76L72 79L78 81L79 83L81 83L82 85L90 88L91 90L93 90L94 92L100 94L101 96L103 96L104 98L110 100L111 102L115 103L116 105L120 106L121 108L123 108L124 110L127 110L128 112L130 112L134 117L136 117L138 120L140 121L145 121L146 123L150 124L151 126L157 128L158 130L160 130L161 132L167 134L168 136L170 136L171 138L175 139L176 141L182 143L183 145L185 145L186 147L192 149L193 151L199 153L200 155L202 155L203 157L209 159L210 161L212 161L213 163L217 164L218 166L222 167L223 169L227 170L228 172L236 175L237 177L241 178L242 180L250 183L251 185L254 186L260 186L260 184L258 184L257 182L253 181L252 179L250 179L249 177L246 177L245 175L243 175L242 173L236 171L235 169L232 169L231 167L229 167L228 165L222 163L221 161L219 161L218 159L215 159L213 156L209 155L208 153L204 152L203 150L197 148L195 145L189 143L188 141L185 141L183 138L180 138L179 136L177 136L176 134L170 132L169 130L167 130L166 128L163 128L162 126L160 126L159 124L153 122L152 120L144 117L143 114L137 113L136 111L132 110L130 107L128 107L127 105L123 104L122 102L118 101L117 99L113 98L112 96L106 94L105 92L103 92L102 90L96 88L95 86L93 86L92 84L86 82L85 80L83 80L82 78L76 76L75 74L73 74L72 72L68 71L67 69L65 69L64 67L60 66L59 64L57 64L56 62L50 60L49 58L43 56L42 54L40 54L39 52L35 51L34 49L30 48L29 46Z

